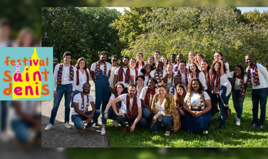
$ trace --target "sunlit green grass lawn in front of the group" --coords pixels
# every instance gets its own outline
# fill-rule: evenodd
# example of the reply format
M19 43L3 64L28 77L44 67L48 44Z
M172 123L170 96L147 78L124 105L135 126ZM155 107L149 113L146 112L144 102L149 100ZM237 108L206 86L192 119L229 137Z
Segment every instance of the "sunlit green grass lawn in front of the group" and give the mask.
M209 134L188 134L183 129L170 136L164 136L164 131L150 132L146 128L135 128L133 133L121 132L108 120L106 131L109 147L268 147L268 126L263 130L249 128L252 122L251 86L246 91L243 105L241 125L235 125L235 109L232 97L229 100L229 108L232 110L230 119L226 121L225 130L216 130L219 121L211 123ZM268 111L266 111L266 116ZM260 109L258 115L260 116ZM219 118L217 113L215 118ZM265 123L266 124L266 123Z

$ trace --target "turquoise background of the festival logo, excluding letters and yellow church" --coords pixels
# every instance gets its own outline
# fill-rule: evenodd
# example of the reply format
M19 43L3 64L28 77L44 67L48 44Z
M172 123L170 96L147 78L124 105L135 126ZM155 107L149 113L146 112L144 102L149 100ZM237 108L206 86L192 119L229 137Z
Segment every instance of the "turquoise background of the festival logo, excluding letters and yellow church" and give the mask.
M49 94L48 95L42 95L40 98L20 98L20 99L13 99L12 98L12 94L14 93L14 88L12 85L12 93L11 95L4 95L4 89L9 87L9 83L12 84L12 80L10 82L5 82L3 79L8 79L8 77L6 77L4 75L4 72L6 70L9 70L11 73L8 73L11 78L13 79L13 73L16 72L16 66L12 66L11 65L11 60L15 60L16 62L14 62L14 64L16 65L17 60L20 59L20 73L23 72L24 70L24 62L22 61L24 59L24 57L26 57L26 59L28 61L26 61L26 66L28 66L29 68L31 68L30 66L30 57L32 57L33 52L34 52L34 48L36 48L36 53L38 55L38 58L40 60L44 60L45 62L45 66L40 66L39 67L39 72L43 72L45 71L49 71L49 73L47 74L47 81L45 81L45 75L41 74L41 78L42 78L42 85L41 85L41 92L45 92L42 89L42 86L47 84L48 87L45 87L46 89L49 90ZM1 85L1 89L0 89L0 100L5 100L5 101L48 101L48 100L53 100L53 47L0 47L0 52L1 52L1 57L0 57L0 63L1 63L1 69L0 69L0 85ZM8 66L6 63L4 63L6 61L6 57L9 56L10 58L8 58ZM46 58L48 58L48 66L46 66ZM39 60L39 61L40 61ZM33 62L32 62L32 65ZM22 77L23 79L23 77ZM37 81L38 78L37 78ZM35 90L35 86L33 86L33 90ZM35 93L35 91L33 91Z

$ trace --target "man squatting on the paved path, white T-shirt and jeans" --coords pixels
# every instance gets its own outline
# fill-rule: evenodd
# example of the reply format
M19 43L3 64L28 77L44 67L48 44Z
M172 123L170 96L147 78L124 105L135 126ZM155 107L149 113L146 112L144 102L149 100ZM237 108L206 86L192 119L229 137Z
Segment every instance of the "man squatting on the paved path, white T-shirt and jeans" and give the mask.
M72 122L74 123L75 132L79 132L84 128L83 121L86 121L88 123L85 127L86 131L96 131L92 128L92 125L97 121L101 112L100 110L96 110L93 98L88 94L89 91L90 84L84 83L83 91L73 97L73 112L71 118ZM92 107L91 111L88 111L89 104Z

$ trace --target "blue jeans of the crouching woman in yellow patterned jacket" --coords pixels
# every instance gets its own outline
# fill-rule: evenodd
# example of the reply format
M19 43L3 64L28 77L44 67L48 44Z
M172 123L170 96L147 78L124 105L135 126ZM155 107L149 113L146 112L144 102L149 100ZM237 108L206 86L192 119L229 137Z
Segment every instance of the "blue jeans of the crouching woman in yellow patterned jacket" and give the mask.
M157 122L152 126L150 131L161 131L165 129L165 131L171 130L171 125L173 124L173 116L164 116L160 121Z

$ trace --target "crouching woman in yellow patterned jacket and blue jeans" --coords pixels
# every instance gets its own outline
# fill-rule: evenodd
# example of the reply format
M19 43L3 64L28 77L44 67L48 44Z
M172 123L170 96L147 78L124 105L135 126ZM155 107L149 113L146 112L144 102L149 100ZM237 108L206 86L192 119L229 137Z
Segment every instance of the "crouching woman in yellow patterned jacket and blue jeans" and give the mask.
M167 92L164 82L157 84L158 93L154 95L152 102L152 123L150 131L165 130L165 136L170 135L172 129L179 131L181 120L174 105L173 95ZM174 126L173 126L174 125Z

